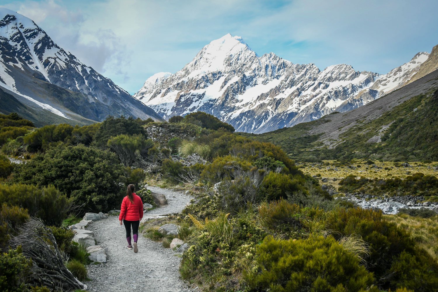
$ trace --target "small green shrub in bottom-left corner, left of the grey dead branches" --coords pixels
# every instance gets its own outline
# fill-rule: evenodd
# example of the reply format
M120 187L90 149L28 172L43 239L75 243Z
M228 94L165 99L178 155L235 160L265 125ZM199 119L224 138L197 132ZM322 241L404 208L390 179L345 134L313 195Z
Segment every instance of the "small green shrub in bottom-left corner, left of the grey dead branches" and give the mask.
M24 292L32 261L21 254L20 248L0 255L0 291Z

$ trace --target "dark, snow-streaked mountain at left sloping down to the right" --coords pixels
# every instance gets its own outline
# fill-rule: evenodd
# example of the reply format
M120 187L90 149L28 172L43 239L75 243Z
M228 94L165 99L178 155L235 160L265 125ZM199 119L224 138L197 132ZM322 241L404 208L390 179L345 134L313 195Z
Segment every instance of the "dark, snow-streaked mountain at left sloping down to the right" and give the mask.
M70 120L102 121L109 115L161 120L57 46L31 19L5 8L0 8L0 90L25 107Z

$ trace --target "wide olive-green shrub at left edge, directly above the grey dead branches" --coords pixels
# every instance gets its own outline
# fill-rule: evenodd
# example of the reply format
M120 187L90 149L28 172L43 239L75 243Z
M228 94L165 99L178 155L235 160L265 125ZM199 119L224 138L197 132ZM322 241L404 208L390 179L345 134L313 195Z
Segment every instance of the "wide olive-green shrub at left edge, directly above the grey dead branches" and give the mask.
M29 215L41 218L48 225L61 225L71 201L54 186L0 185L0 204L25 208Z

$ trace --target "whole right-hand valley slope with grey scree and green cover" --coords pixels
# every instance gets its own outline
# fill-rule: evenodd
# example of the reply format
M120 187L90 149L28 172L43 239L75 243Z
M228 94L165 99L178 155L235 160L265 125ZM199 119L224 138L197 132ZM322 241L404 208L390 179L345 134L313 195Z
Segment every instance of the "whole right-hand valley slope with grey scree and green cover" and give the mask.
M244 135L279 145L301 161L438 161L438 70L347 113Z

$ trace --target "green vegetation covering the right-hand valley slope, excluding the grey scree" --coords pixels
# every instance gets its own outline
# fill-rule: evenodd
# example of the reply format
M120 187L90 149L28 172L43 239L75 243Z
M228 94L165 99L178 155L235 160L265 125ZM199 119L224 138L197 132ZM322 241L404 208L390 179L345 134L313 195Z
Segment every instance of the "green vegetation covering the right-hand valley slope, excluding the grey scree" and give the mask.
M437 111L438 91L417 95L375 120L356 121L353 127L339 136L339 141L333 141L336 147L331 148L321 143L321 135L309 132L321 123L336 119L336 114L260 135L242 135L279 145L299 161L353 158L438 161ZM368 142L372 137L380 137L381 141Z

